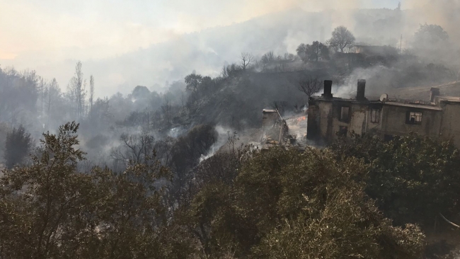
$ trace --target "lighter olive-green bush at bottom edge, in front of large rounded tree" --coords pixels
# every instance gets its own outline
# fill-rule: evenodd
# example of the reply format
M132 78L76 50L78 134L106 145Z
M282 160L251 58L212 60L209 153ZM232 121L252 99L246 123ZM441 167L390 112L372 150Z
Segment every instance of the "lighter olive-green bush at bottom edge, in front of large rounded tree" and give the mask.
M420 258L418 226L391 226L362 190L327 191L323 206L305 197L314 216L285 219L254 249L257 258Z

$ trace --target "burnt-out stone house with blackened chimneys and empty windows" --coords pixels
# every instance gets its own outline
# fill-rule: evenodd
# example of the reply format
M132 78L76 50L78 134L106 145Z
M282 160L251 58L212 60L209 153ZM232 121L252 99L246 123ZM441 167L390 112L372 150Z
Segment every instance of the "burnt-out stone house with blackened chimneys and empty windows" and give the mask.
M460 147L460 98L440 96L432 88L429 101L365 96L366 81L357 82L355 98L335 98L332 81L324 81L321 96L309 100L307 139L330 142L348 132L367 133L390 140L393 136L416 132L422 136L452 140Z

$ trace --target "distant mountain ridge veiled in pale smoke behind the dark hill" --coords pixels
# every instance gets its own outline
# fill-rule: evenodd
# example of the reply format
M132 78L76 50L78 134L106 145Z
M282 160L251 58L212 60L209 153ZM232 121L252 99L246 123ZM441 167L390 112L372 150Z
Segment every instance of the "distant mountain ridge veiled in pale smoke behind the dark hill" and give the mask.
M243 23L214 27L180 35L175 40L139 48L106 59L81 60L84 73L96 79L96 96L111 96L117 91L130 93L134 86L148 86L159 91L166 81L183 79L193 70L216 76L224 64L238 61L241 52L260 57L273 51L295 54L301 42L326 41L338 24L346 25L358 42L396 45L400 35L401 12L389 9L356 9L352 11L309 12L301 9L280 11L253 18ZM415 28L410 30L411 33ZM57 78L64 88L73 76L80 57L61 62L26 63L27 57L0 60L2 67L15 65L18 70L35 69L45 78Z

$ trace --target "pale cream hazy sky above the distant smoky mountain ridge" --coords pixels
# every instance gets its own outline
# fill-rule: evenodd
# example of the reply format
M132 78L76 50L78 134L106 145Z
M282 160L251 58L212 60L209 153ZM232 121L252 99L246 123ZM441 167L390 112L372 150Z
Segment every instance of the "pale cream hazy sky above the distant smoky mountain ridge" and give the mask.
M398 1L0 0L0 59L98 59L273 11L331 4L395 8Z

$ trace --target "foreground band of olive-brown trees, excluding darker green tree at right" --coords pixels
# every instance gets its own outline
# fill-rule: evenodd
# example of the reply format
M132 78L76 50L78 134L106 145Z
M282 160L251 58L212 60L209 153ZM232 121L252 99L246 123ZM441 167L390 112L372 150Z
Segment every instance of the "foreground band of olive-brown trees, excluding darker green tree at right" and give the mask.
M29 166L1 176L2 258L419 258L425 247L418 226L374 205L363 159L230 142L192 170L179 202L155 151L123 173L79 172L78 127L43 134Z

